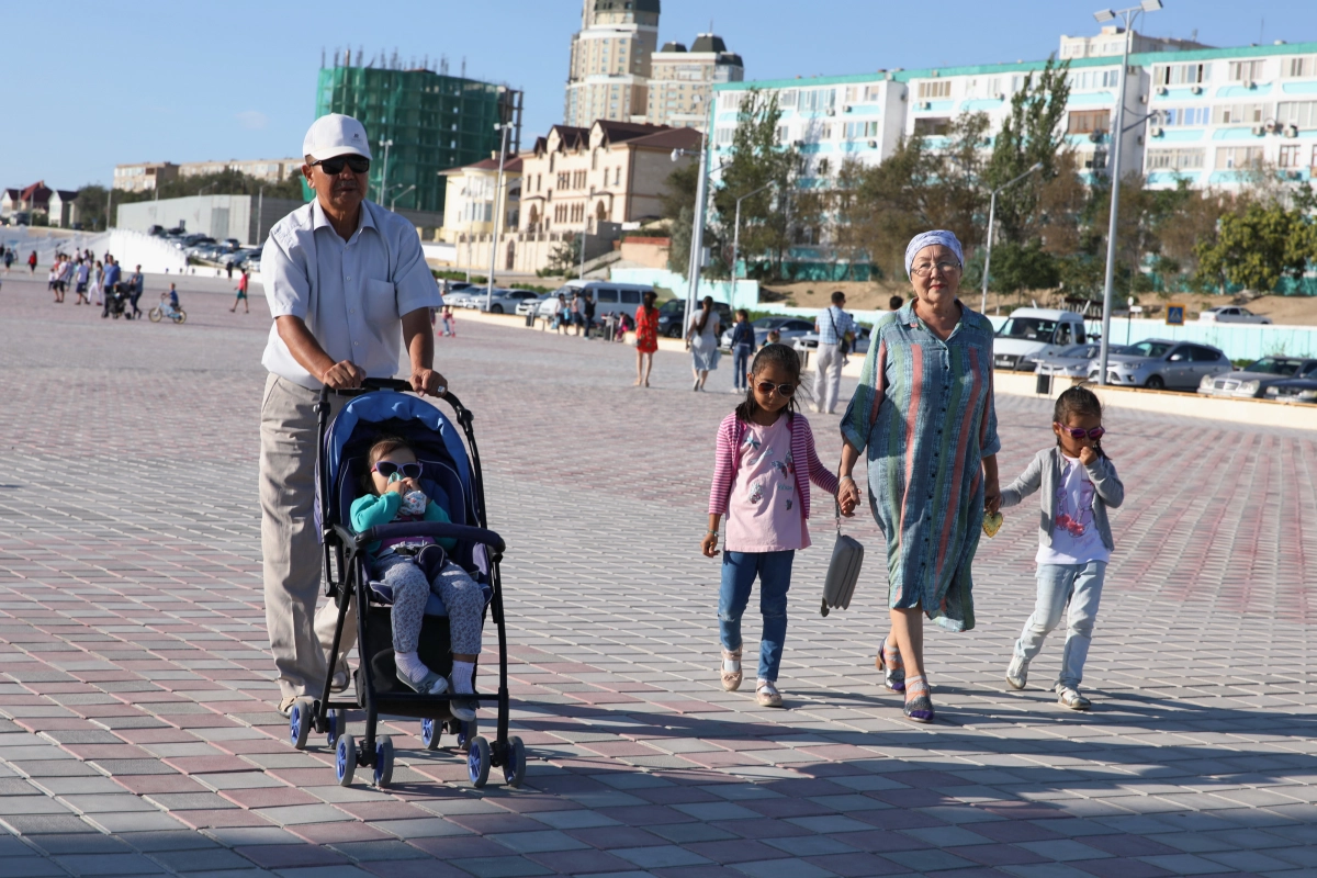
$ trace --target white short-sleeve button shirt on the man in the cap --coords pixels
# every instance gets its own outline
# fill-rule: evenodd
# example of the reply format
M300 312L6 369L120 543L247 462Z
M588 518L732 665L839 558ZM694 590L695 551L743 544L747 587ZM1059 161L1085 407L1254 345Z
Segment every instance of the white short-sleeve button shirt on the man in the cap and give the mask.
M279 220L261 251L261 283L271 317L300 317L335 361L352 361L369 378L392 378L402 357L402 317L444 304L415 226L362 201L344 241L319 200ZM261 362L275 375L320 388L270 326Z

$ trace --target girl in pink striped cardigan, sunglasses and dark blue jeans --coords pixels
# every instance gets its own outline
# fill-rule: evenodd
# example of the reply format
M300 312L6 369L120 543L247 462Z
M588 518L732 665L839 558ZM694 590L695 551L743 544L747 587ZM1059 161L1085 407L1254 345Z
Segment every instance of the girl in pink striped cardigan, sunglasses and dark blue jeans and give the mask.
M764 636L756 699L764 707L781 707L777 670L786 638L786 590L795 550L810 545L810 482L834 496L838 482L814 452L810 423L798 412L799 355L786 345L766 345L748 379L745 401L718 428L709 532L699 548L709 558L718 555L718 523L726 515L718 596L723 688L731 692L741 684L741 613L759 577ZM842 513L849 517L853 507L847 503Z

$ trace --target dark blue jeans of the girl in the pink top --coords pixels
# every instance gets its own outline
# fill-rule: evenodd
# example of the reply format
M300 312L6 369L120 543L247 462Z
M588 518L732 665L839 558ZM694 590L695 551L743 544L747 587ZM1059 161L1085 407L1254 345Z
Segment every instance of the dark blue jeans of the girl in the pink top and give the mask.
M759 641L759 678L777 681L786 640L786 590L792 587L795 550L723 552L723 583L718 594L718 629L723 649L740 649L740 619L759 577L759 612L764 636Z

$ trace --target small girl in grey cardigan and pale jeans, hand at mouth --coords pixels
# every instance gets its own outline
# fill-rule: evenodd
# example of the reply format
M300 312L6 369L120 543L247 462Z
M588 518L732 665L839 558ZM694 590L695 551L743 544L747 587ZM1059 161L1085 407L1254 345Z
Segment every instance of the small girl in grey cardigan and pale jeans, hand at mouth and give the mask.
M1038 533L1038 603L1015 641L1015 654L1006 669L1006 683L1025 688L1029 662L1043 648L1043 638L1056 628L1069 600L1065 649L1055 690L1058 702L1072 711L1087 711L1080 695L1084 659L1093 637L1097 603L1102 596L1106 562L1112 557L1112 525L1106 508L1125 500L1125 486L1115 465L1102 452L1102 403L1093 391L1071 387L1056 399L1052 412L1056 446L1044 448L1025 473L1001 492L1001 505L1018 505L1042 488L1042 529Z

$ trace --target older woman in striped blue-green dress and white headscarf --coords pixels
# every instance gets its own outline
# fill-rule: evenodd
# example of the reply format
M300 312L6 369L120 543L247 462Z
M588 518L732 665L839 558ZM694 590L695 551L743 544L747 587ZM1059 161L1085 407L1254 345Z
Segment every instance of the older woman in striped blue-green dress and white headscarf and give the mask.
M892 633L877 666L905 692L905 715L931 723L923 616L951 631L975 627L969 567L984 511L1001 505L992 324L956 292L964 258L951 232L906 247L914 297L873 328L860 386L842 420L842 494L868 449L869 507L888 540Z

